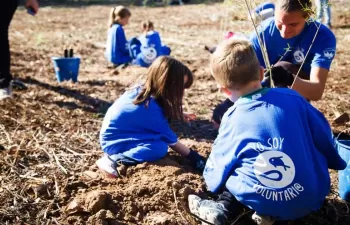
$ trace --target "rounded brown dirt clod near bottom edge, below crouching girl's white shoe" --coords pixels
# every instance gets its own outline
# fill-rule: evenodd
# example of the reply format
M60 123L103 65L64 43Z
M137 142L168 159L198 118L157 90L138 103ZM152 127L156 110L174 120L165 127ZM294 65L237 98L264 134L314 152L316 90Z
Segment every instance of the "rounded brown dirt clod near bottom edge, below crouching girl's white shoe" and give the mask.
M101 209L106 209L111 196L104 191L91 191L85 198L85 208L87 211L97 213Z

